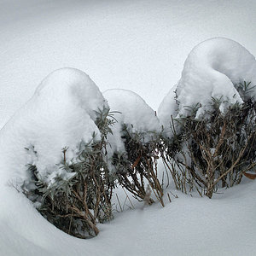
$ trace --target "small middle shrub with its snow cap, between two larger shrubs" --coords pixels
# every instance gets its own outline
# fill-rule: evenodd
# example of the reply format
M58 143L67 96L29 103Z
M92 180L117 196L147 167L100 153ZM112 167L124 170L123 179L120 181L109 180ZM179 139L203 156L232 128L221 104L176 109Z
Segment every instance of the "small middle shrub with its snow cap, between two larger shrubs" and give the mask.
M108 135L108 156L119 183L138 200L152 204L149 186L164 205L157 173L160 125L154 110L130 90L107 90L103 95L110 108L119 112L115 113L113 134Z

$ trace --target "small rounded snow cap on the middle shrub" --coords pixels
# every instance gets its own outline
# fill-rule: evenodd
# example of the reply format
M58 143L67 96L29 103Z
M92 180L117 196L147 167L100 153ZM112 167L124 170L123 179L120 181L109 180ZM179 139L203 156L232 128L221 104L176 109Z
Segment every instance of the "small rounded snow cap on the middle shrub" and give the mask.
M131 133L143 133L148 131L160 131L159 119L154 110L148 106L141 96L131 90L111 89L103 92L103 96L108 101L111 111L117 123L113 125L113 135L108 135L111 148L109 155L116 151L124 152L125 145L122 141L122 127L126 125ZM149 134L145 134L145 141L150 139Z

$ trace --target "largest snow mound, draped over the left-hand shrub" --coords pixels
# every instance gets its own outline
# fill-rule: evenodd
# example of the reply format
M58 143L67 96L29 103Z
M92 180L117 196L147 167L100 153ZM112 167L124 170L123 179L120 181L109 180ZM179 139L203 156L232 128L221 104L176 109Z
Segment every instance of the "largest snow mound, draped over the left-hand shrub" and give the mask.
M104 106L108 103L87 74L73 68L50 73L1 131L1 180L26 180L27 164L36 165L47 183L55 174L69 178L55 165L62 159L61 149L68 147L71 160L81 141L89 143L93 132L99 136L95 111Z

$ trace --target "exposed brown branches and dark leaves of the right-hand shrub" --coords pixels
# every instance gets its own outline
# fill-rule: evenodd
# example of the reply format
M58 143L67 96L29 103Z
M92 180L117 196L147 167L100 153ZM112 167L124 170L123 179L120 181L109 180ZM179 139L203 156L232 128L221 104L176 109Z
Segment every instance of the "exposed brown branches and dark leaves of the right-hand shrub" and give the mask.
M195 112L175 119L181 126L172 141L165 141L163 158L177 188L196 187L212 197L218 186L241 182L243 172L256 166L256 103L252 99L219 111L212 100L210 118L195 119ZM172 125L172 129L175 129Z

